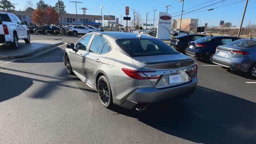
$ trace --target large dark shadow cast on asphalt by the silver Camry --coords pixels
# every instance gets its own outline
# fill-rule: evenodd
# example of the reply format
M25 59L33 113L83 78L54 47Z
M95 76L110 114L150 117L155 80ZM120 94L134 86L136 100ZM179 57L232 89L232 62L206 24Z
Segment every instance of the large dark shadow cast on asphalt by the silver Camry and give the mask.
M118 106L111 110L192 142L256 142L256 104L200 86L190 98L154 106L146 112Z

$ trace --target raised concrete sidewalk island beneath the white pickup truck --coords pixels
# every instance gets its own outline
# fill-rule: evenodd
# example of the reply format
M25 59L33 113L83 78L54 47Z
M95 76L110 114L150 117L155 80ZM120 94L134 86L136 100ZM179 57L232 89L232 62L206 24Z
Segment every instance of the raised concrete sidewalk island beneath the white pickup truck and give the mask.
M0 60L14 60L38 56L63 44L61 41L53 40L32 40L26 44L19 40L19 48L13 49L9 44L0 45Z

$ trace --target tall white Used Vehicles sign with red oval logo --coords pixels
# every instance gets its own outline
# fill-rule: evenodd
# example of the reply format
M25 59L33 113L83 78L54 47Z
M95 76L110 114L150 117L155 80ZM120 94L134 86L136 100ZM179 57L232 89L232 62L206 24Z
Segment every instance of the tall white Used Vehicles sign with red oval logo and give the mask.
M172 16L165 12L158 12L158 25L156 38L161 40L171 39Z

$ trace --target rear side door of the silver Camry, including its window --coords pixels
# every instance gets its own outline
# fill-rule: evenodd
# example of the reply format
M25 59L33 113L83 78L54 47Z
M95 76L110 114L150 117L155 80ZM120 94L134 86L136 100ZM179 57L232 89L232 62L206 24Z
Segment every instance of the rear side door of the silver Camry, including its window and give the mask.
M110 44L103 36L94 36L88 54L84 55L85 62L83 63L84 76L92 86L95 86L96 72L105 63L104 59L110 50Z

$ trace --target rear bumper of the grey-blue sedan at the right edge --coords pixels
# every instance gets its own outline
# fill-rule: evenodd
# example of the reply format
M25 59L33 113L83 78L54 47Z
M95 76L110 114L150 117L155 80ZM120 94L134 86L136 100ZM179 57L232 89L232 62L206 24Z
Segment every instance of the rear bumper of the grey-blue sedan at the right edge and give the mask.
M247 72L247 70L250 68L250 66L254 63L252 59L249 57L242 57L242 58L224 58L221 56L214 55L212 57L212 62L214 64L218 64L220 66L224 66L227 68L231 68L234 70L241 70L244 72Z

